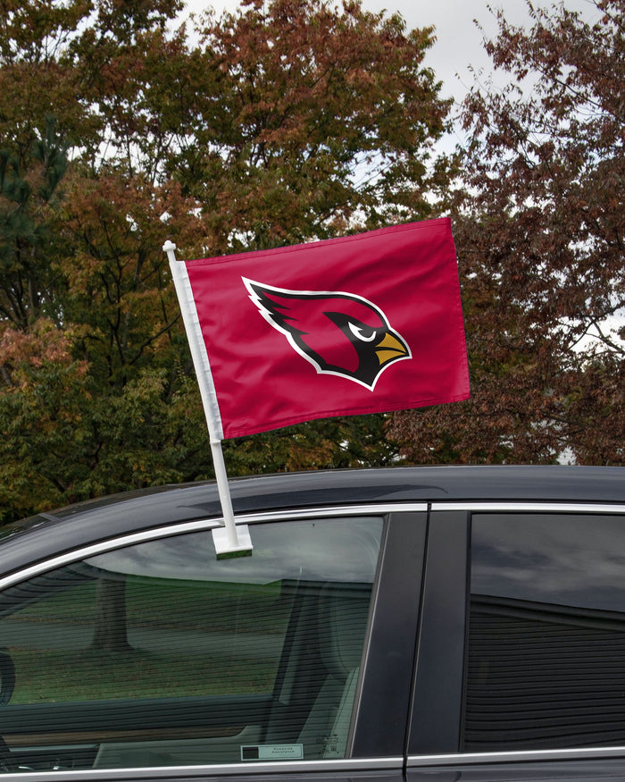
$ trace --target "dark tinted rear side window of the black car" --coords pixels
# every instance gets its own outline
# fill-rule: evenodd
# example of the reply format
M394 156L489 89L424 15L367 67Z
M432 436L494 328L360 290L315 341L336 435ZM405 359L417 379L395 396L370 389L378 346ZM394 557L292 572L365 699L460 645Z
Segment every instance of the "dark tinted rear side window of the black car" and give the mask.
M625 518L478 515L465 752L625 744Z

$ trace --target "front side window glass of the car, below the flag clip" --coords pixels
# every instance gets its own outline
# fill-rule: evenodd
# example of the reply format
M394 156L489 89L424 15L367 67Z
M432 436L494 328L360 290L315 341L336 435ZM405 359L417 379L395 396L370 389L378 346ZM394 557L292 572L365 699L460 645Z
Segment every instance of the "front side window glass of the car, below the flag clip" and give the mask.
M253 525L240 559L173 535L7 588L0 767L346 756L381 530Z

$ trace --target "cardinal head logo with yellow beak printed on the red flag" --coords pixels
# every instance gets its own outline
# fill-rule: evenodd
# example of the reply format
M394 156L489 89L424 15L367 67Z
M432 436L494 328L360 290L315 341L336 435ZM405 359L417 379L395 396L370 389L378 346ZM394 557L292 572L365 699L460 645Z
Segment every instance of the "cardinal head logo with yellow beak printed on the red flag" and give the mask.
M320 374L337 374L373 391L388 366L412 358L382 310L362 296L242 280L262 317Z

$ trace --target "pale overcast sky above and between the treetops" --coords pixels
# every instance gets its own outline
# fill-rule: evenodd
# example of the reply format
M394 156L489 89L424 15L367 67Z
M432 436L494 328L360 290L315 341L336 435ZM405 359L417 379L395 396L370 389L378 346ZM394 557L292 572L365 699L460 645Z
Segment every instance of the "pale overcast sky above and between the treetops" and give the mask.
M399 12L410 28L436 28L437 42L428 54L426 64L434 69L437 79L443 81L443 95L462 99L473 83L470 71L476 69L489 71L489 61L481 42L480 32L474 20L491 37L496 31L494 14L488 11L504 7L505 17L514 24L529 25L526 0L363 0L363 6L371 11L389 13ZM549 8L552 0L533 0L535 7ZM212 5L217 13L224 9L237 8L237 0L187 0L189 10L200 11ZM598 12L592 0L564 0L564 5L572 11L583 13L588 21L595 21Z

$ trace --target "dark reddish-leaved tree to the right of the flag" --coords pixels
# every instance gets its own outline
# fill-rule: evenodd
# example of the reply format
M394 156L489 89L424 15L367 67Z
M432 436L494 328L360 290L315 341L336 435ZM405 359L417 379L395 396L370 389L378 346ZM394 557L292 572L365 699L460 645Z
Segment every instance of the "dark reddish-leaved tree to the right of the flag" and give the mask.
M413 459L625 462L625 10L595 5L497 14L454 204L472 399L396 416Z

